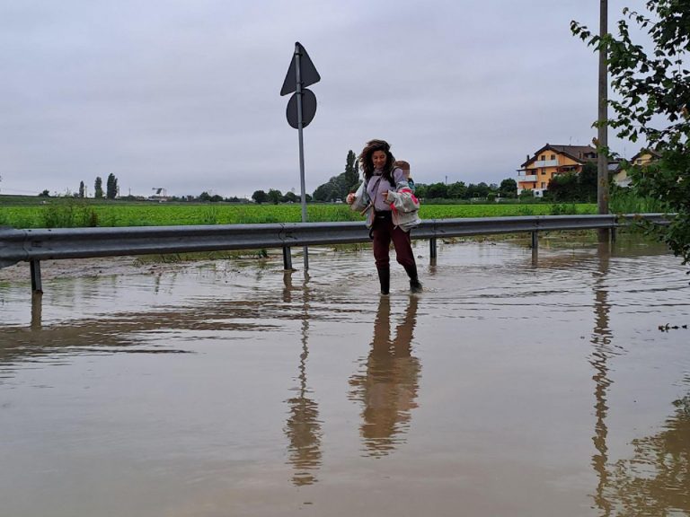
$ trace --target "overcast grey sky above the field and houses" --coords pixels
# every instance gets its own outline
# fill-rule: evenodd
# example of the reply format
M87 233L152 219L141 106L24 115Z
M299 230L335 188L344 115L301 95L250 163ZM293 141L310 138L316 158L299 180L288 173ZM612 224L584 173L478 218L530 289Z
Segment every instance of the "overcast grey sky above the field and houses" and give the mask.
M609 0L609 28L624 5ZM0 0L0 192L299 194L279 92L295 47L322 81L306 191L371 138L421 183L500 183L546 143L587 145L597 0ZM610 145L628 157L640 145Z

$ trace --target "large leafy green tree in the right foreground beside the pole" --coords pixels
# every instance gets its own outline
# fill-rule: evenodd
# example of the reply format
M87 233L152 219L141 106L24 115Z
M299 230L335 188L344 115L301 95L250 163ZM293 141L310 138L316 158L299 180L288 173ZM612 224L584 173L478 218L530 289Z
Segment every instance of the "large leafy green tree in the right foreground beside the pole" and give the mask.
M659 237L690 262L690 72L683 58L690 51L690 3L650 0L648 14L625 8L617 36L603 39L571 22L571 31L588 45L608 48L611 86L619 100L609 101L614 117L606 120L621 138L639 137L659 153L657 162L630 165L632 188L642 197L668 203L677 216ZM628 20L649 35L651 48L633 42ZM608 150L606 149L606 152Z

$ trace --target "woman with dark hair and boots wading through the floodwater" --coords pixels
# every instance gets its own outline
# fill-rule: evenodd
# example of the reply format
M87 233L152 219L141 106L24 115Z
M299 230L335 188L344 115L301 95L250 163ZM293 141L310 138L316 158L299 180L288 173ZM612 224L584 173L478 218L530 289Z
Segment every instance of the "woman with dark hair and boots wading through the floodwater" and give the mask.
M384 140L371 140L359 154L359 167L364 173L365 188L363 199L349 194L347 202L356 201L366 205L367 226L374 240L374 259L378 279L381 283L381 294L388 294L391 285L391 267L388 249L391 241L395 248L395 259L405 268L410 277L410 290L420 293L421 284L417 276L417 264L412 253L410 233L401 226L394 225L391 203L398 188L409 188L402 169L394 167L395 158L391 146ZM390 196L389 196L390 195Z

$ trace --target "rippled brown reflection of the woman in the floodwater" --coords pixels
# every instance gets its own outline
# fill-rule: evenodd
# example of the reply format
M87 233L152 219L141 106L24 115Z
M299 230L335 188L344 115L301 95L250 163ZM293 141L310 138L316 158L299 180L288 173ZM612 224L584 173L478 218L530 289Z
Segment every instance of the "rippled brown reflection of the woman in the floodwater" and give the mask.
M417 407L420 362L411 356L411 340L417 318L418 299L410 297L403 321L391 340L391 301L384 296L378 303L371 352L365 372L353 375L350 399L364 403L361 434L370 455L379 456L394 449L398 434L410 424L410 411Z

